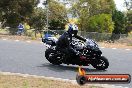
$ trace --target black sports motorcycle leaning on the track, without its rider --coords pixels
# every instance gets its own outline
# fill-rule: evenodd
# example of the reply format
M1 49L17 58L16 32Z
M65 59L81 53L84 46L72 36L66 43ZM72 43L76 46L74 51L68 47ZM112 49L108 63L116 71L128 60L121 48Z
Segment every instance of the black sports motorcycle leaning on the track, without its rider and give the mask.
M102 56L98 44L92 39L87 39L86 42L73 39L71 45L77 52L81 53L81 55L68 58L70 61L66 61L67 58L65 53L56 49L56 42L57 38L55 37L49 37L45 42L48 47L45 51L45 57L54 65L63 63L67 65L89 66L91 64L98 70L105 70L109 66L108 59Z

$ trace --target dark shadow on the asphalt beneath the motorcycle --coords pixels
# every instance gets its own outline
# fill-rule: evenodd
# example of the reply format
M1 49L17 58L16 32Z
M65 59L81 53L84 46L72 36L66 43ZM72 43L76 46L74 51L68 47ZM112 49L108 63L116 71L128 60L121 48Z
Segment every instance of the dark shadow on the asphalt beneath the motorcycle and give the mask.
M41 66L38 66L38 67L44 67L44 68L47 68L49 70L52 70L52 71L55 71L55 72L64 72L66 70L69 70L69 71L73 71L73 72L78 72L78 67L77 65L53 65L53 64L50 64L50 63L45 63L45 64L42 64ZM86 72L90 73L90 72L105 72L106 70L97 70L97 69L91 69L89 68L89 66L83 66L82 67Z

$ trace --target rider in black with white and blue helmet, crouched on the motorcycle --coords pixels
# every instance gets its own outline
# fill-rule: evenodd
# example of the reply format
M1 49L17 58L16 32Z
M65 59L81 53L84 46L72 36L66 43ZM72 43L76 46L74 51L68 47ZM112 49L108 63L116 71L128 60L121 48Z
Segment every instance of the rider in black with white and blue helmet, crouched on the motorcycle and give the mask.
M62 53L66 54L68 60L69 57L80 55L75 49L73 49L71 42L72 38L77 38L86 42L86 39L77 35L78 27L75 24L68 25L68 31L64 32L58 39L56 48L59 49Z

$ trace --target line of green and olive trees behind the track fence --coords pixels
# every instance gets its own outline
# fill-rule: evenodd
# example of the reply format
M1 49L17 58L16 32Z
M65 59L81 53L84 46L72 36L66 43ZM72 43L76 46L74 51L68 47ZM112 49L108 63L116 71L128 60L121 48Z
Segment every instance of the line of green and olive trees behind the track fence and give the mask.
M72 2L72 0L69 0ZM128 2L129 1L129 2ZM47 9L37 7L39 0L1 0L0 22L16 31L17 25L28 23L32 28L46 29ZM66 8L55 0L48 0L50 30L64 30L68 14L78 19L81 31L99 33L128 33L132 26L132 0L124 0L127 11L118 11L114 0L77 0L71 8Z

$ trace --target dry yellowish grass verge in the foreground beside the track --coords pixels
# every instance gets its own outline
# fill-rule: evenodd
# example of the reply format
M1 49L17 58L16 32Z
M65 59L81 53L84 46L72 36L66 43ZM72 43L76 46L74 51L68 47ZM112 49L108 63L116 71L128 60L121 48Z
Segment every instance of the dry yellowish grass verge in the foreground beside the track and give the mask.
M103 87L98 87L94 85L79 86L71 82L0 74L0 88L103 88Z

